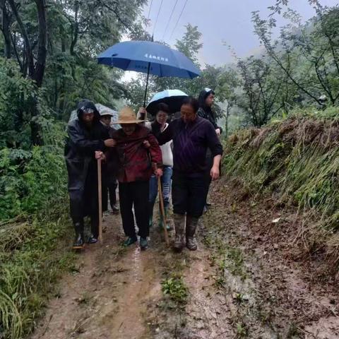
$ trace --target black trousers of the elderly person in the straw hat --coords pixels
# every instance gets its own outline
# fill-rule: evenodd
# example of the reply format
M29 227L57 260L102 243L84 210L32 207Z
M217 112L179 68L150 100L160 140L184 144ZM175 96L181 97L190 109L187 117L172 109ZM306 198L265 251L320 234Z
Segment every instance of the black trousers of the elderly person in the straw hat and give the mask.
M135 237L134 214L138 235L145 238L149 235L149 209L148 209L149 182L119 182L119 200L122 226L127 237Z

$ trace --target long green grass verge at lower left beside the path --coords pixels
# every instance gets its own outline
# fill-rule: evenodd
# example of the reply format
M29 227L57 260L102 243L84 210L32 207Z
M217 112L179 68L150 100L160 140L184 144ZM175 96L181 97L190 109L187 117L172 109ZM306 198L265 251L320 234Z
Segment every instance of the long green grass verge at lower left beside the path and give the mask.
M57 278L72 265L60 242L69 232L65 207L49 206L30 223L0 226L1 338L20 339L32 331ZM8 242L12 237L16 241Z

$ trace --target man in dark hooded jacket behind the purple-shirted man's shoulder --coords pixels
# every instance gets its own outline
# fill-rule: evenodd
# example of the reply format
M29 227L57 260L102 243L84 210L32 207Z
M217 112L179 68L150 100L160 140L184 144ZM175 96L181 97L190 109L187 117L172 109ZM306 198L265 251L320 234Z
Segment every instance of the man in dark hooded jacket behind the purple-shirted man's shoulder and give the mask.
M215 114L212 111L214 95L215 95L214 91L211 90L210 88L204 88L203 90L201 90L201 93L199 94L198 97L199 102L198 116L210 121L210 123L213 124L215 132L217 133L218 136L220 136L222 133L222 128L218 126L217 122L215 121ZM210 205L210 203L207 202L208 189L210 188L211 182L210 169L213 166L213 157L210 150L207 150L206 163L208 164L208 168L206 170L206 204L204 212L206 212L207 206Z

